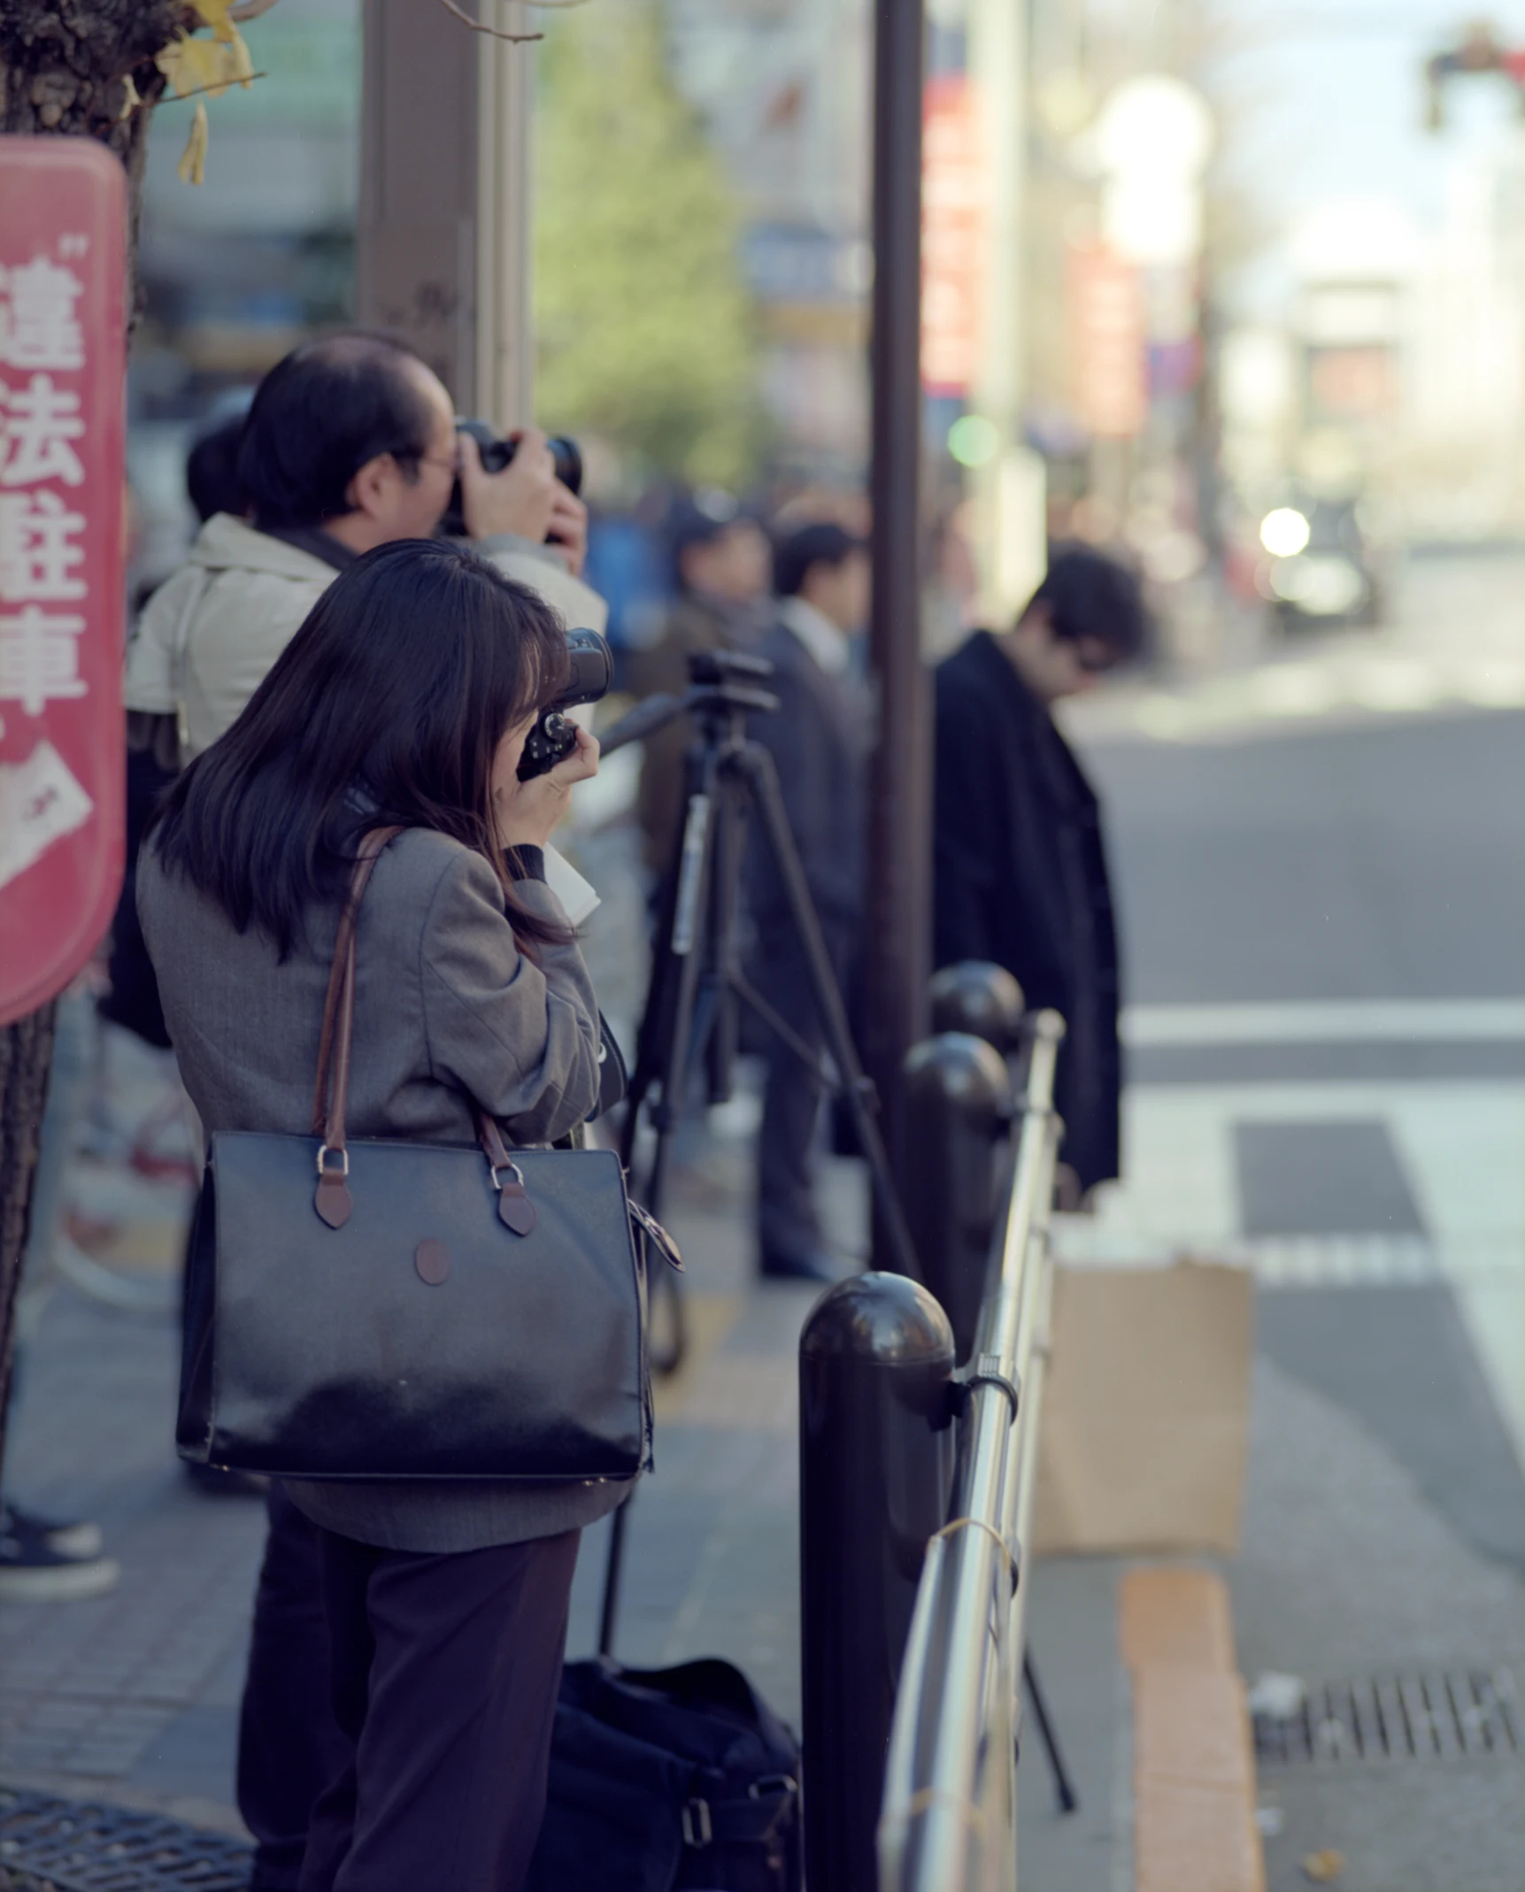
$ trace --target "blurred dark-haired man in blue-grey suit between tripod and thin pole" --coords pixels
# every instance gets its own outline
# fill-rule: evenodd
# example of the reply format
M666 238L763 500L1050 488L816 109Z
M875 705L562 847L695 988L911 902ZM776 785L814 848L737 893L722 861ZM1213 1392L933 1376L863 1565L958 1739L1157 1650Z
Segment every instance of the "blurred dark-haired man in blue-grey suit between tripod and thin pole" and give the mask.
M783 808L825 933L838 984L853 980L863 920L868 700L853 641L868 613L868 552L834 522L795 528L774 554L778 615L757 645L774 674L764 689L778 713L751 721L774 759ZM757 929L753 984L815 1052L821 1022L795 935L783 880L753 823L747 908ZM768 1033L768 1077L757 1141L757 1251L764 1275L833 1281L812 1186L821 1084L800 1056Z

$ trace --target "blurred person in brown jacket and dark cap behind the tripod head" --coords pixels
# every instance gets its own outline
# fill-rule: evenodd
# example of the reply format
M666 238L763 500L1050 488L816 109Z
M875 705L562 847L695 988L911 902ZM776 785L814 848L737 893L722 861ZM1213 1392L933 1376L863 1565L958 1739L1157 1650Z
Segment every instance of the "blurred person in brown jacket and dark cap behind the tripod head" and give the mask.
M640 696L658 691L681 696L696 651L749 647L768 624L768 539L730 494L683 499L668 524L668 543L677 596L658 641L632 653L630 687ZM636 815L645 865L658 887L677 859L689 736L679 717L649 736L641 755Z

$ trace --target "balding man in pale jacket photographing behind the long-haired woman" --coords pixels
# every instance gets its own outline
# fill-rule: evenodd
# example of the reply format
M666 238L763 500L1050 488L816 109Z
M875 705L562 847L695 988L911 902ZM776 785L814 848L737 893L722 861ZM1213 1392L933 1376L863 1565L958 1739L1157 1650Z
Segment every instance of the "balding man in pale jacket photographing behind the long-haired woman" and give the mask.
M129 740L170 766L210 747L361 552L431 537L447 511L568 626L604 630L581 581L587 509L547 437L479 445L441 380L405 346L331 335L259 384L238 447L248 517L218 513L149 600L127 658ZM507 448L507 452L505 452ZM484 456L505 462L488 471ZM420 624L420 636L428 626ZM329 1703L314 1529L278 1483L238 1726L238 1807L255 1837L250 1892L295 1892L316 1796L344 1765Z

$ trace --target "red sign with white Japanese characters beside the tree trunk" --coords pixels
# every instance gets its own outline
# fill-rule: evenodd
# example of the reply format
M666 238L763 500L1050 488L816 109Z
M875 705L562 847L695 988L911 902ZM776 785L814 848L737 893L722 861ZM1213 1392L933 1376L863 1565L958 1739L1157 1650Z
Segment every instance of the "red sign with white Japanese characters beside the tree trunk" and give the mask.
M121 891L125 286L115 157L0 138L0 1024Z

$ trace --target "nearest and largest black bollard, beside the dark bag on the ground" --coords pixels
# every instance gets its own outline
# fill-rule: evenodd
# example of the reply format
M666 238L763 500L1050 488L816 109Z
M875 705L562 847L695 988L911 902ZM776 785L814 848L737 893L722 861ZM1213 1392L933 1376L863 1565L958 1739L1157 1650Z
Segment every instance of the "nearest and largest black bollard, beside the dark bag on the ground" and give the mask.
M806 1883L874 1892L895 1688L954 1478L954 1336L904 1275L840 1281L800 1334Z

